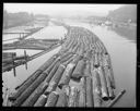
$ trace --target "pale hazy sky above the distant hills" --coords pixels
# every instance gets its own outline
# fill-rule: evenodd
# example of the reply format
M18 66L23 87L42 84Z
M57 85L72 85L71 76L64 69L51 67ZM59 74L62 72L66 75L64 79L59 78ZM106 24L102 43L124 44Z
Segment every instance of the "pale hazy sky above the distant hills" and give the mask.
M108 11L120 8L124 4L75 4L75 3L4 3L3 8L10 12L28 12L48 15L100 15L108 14Z

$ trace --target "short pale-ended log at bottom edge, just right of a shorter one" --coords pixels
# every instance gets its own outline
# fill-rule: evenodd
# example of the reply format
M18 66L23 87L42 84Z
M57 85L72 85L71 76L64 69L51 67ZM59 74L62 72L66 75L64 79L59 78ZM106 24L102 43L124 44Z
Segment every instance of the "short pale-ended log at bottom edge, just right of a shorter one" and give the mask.
M59 97L58 92L56 91L50 92L45 107L55 107L57 103L58 97Z

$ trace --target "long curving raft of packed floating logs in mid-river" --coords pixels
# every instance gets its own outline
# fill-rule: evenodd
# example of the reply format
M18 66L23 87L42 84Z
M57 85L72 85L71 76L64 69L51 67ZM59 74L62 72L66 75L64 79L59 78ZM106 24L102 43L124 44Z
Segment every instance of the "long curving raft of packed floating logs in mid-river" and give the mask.
M86 28L66 25L61 49L9 97L12 107L102 107L115 98L110 57ZM71 81L80 86L71 86Z

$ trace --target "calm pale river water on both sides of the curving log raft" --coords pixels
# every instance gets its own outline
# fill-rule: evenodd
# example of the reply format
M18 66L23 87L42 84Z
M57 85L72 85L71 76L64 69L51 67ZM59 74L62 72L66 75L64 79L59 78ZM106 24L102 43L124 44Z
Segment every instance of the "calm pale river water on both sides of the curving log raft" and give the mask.
M115 94L117 95L122 88L126 94L114 107L135 107L136 106L136 42L126 37L118 35L115 30L107 26L90 25L78 21L65 21L69 25L82 26L92 30L104 42L107 51L110 54L114 76L116 82ZM61 38L67 33L62 26L55 26L52 23L48 27L28 36L27 38ZM24 82L35 70L37 70L45 60L59 51L60 47L28 62L28 69L24 65L16 67L16 77L13 76L13 71L2 74L3 85L9 88L15 88Z

